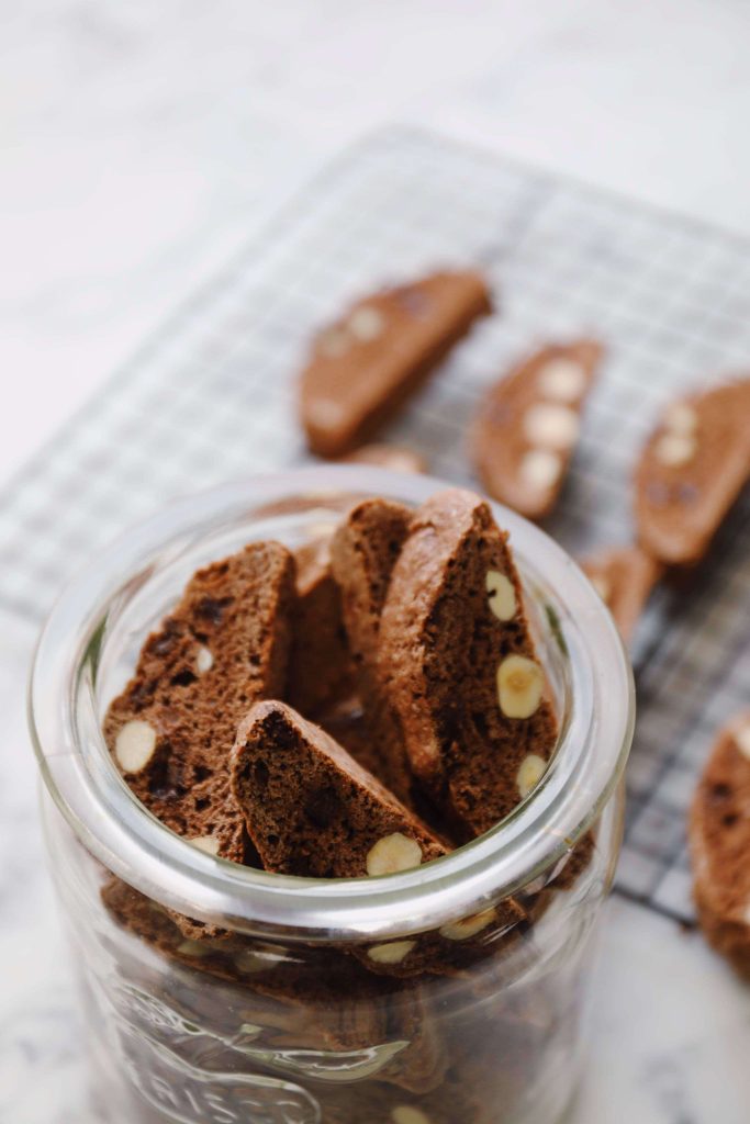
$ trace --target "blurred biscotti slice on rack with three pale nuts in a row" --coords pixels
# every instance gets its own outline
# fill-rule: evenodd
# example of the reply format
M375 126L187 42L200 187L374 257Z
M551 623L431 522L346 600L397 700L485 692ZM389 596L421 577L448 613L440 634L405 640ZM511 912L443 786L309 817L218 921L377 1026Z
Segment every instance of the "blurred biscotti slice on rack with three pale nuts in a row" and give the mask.
M528 519L549 515L560 495L602 356L594 339L544 347L495 383L479 407L472 432L479 479Z

